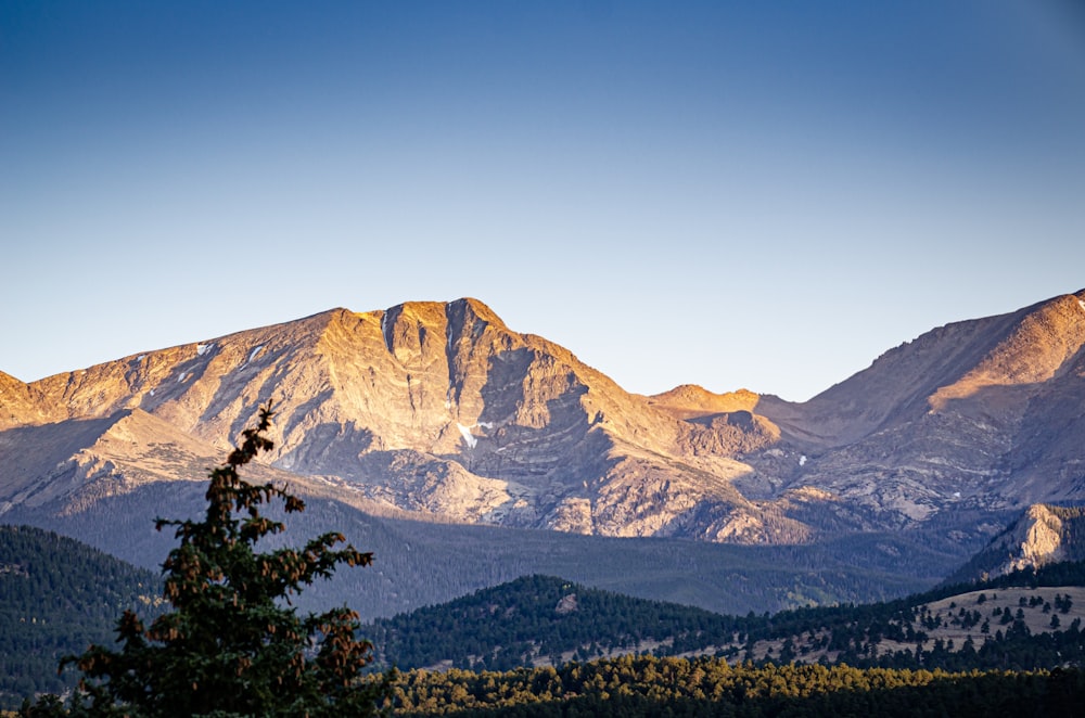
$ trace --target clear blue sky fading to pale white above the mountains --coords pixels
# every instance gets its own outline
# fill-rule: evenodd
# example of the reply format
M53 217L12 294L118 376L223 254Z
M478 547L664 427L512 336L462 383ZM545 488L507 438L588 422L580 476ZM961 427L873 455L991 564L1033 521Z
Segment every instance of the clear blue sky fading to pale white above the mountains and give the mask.
M0 0L0 370L476 297L802 400L1085 287L1076 0Z

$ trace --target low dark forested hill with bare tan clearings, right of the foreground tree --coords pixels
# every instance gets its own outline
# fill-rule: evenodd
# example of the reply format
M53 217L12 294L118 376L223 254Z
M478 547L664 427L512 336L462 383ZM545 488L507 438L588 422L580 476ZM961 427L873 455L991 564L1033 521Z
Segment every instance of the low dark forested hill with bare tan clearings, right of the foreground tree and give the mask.
M1085 563L896 601L727 616L531 576L374 621L401 669L506 670L628 653L732 663L1031 670L1085 663Z

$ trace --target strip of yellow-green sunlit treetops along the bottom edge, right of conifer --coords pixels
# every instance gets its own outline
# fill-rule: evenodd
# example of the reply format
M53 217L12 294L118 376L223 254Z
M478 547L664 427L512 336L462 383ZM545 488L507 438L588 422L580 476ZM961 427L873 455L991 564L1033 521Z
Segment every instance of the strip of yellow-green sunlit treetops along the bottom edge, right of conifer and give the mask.
M513 671L410 671L392 687L400 716L1075 715L1081 669L968 671L846 665L732 666L712 657L623 656Z

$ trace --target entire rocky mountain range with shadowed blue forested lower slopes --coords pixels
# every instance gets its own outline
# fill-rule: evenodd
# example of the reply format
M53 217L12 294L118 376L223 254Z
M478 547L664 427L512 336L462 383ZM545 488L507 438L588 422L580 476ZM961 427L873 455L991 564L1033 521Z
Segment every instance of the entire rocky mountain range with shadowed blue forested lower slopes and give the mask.
M932 330L791 403L630 394L475 299L334 309L0 373L0 521L155 566L153 517L195 511L272 399L252 476L309 498L298 530L380 549L329 601L388 614L523 573L714 610L878 599L959 569L1034 504L1085 500L1083 343L1085 291Z

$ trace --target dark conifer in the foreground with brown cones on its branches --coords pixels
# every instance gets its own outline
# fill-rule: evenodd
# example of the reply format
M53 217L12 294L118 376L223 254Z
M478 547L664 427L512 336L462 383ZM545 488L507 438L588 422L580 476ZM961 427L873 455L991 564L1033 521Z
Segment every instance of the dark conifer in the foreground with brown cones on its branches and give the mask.
M272 484L243 480L239 467L272 448L265 436L271 405L226 463L210 472L203 521L156 520L175 526L180 546L163 564L165 599L173 611L150 627L131 611L118 620L120 650L93 645L68 657L82 671L81 694L71 715L95 716L367 716L388 690L359 681L372 645L356 638L358 615L347 607L297 615L292 595L339 564L368 566L371 553L336 533L304 549L256 551L256 542L282 531L261 515L281 500L286 513L305 504ZM62 664L63 666L63 664ZM27 715L52 713L55 698Z

